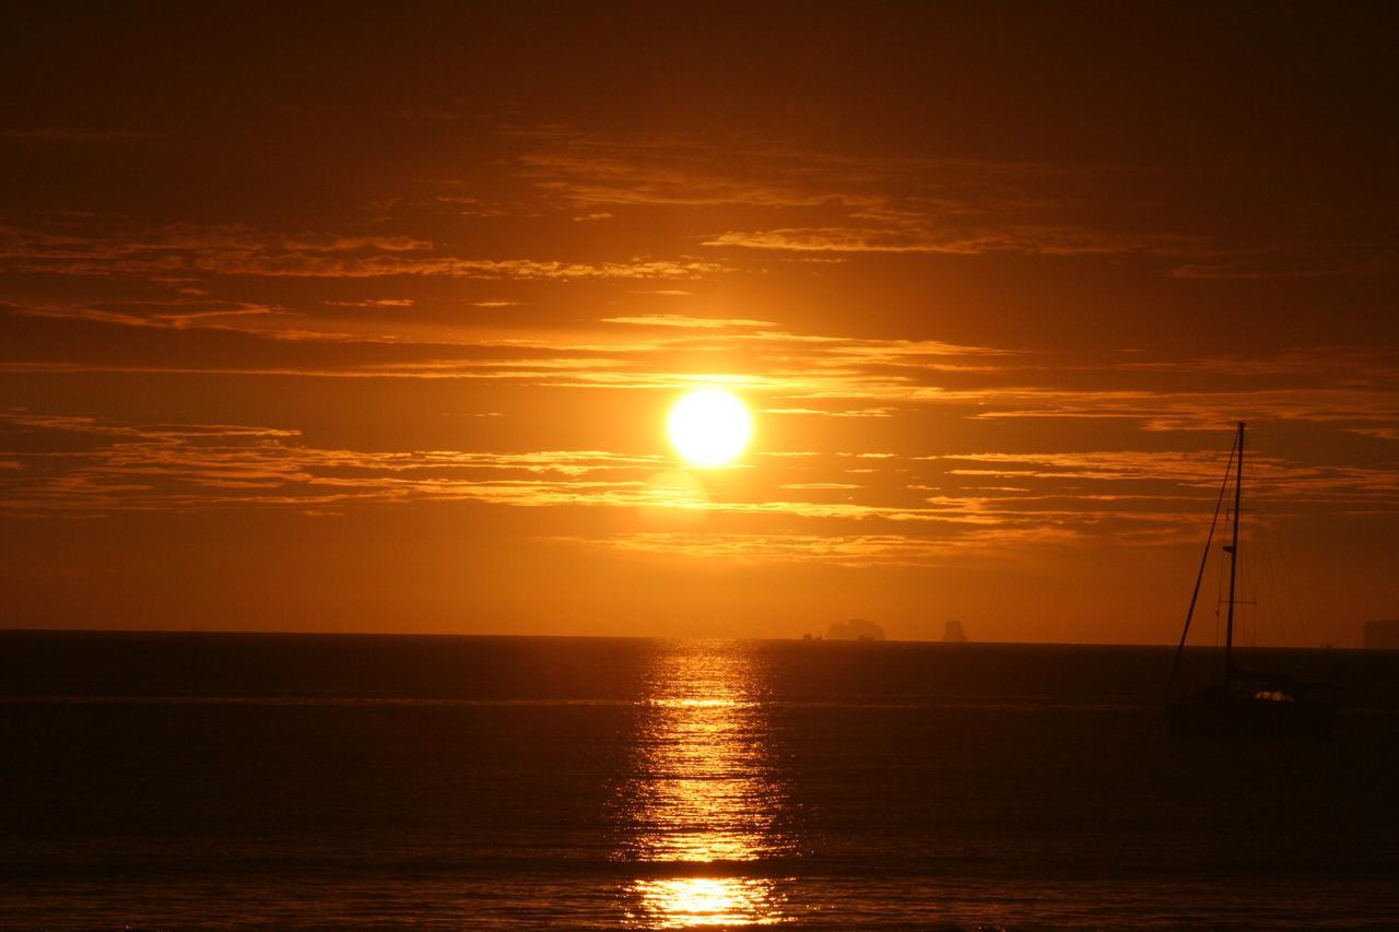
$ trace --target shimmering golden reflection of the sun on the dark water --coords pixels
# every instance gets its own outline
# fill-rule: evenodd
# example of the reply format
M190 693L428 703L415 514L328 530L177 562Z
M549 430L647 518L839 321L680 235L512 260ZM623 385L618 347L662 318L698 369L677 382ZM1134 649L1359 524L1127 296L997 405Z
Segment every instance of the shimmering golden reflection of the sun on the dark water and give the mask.
M743 644L670 642L655 656L639 758L621 800L618 856L646 866L624 890L634 928L786 918L775 880L744 870L795 849L778 824L785 793L755 663Z

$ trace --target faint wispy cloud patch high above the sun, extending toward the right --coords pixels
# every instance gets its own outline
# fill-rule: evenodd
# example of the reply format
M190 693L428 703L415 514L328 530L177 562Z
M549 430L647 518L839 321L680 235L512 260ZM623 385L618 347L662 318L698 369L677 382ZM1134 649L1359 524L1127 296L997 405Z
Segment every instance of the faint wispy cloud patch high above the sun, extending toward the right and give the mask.
M546 134L519 174L569 209L743 210L755 225L709 231L712 249L796 255L1210 255L1186 230L1105 223L1132 174L1076 167L813 153L758 139ZM1119 192L1119 197L1129 197ZM1090 207L1088 204L1094 204Z

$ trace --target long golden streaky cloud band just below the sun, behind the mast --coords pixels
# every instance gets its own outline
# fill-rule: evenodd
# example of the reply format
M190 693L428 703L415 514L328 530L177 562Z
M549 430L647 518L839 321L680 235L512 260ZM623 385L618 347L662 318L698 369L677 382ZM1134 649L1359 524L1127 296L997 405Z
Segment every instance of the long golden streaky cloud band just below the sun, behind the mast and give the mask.
M487 411L481 416L494 416ZM662 453L603 449L354 449L255 424L132 423L0 413L0 511L91 516L208 508L341 514L360 507L474 502L609 516L575 543L627 553L751 563L928 565L1027 547L1108 540L1195 542L1223 474L1207 449L949 452L768 451L740 484L687 501L702 533L655 533ZM877 463L851 470L846 463ZM845 473L858 472L852 481ZM1399 476L1377 462L1251 458L1255 501L1273 514L1396 514ZM582 509L582 511L579 511ZM523 512L516 512L523 514ZM586 523L586 522L585 522ZM617 530L632 528L632 530ZM739 556L741 551L741 557Z

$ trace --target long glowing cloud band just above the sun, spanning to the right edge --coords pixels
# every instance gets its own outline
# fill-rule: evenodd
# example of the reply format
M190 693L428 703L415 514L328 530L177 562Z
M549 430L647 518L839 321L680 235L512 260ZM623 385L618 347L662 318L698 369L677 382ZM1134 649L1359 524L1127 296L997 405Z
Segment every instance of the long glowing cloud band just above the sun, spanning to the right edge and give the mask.
M283 308L208 299L10 306L10 372L206 372L460 379L540 389L674 392L725 385L781 418L1116 423L1164 434L1245 420L1382 431L1399 423L1399 360L1384 348L1247 358L1060 358L939 340L783 330L757 319L639 315L578 332L357 336ZM133 332L140 332L136 336ZM1172 390L1192 374L1191 390Z

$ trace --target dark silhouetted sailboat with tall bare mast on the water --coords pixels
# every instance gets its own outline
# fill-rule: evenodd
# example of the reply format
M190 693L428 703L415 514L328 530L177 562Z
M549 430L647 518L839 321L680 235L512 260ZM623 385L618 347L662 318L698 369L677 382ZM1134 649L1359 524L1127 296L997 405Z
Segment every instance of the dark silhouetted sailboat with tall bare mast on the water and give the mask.
M1205 554L1195 577L1195 591L1191 607L1185 614L1185 630L1175 649L1175 663L1171 666L1171 686L1167 693L1165 712L1171 733L1196 737L1326 737L1336 725L1335 689L1325 683L1304 683L1286 675L1245 670L1234 662L1234 605L1238 581L1238 515L1244 494L1244 421L1238 423L1230 462L1224 469L1224 484L1214 504L1214 518L1205 540ZM1224 626L1224 668L1223 679L1202 690L1175 691L1175 675L1185 652L1185 638L1191 633L1191 619L1200 595L1205 578L1205 564L1220 509L1224 505L1230 486L1234 491L1233 533L1223 547L1228 557L1228 614Z

